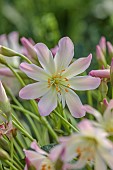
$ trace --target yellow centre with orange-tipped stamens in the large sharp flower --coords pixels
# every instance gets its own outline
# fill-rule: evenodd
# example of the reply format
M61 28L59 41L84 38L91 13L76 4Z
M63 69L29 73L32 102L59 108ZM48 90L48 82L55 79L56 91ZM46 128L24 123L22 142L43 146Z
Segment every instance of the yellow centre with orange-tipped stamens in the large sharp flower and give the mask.
M61 94L61 89L64 89L65 92L68 92L68 88L70 87L70 84L68 83L68 79L65 77L62 77L62 72L65 70L62 70L60 73L57 73L56 75L52 75L51 78L48 78L48 88L51 86L54 86L56 88L56 91Z

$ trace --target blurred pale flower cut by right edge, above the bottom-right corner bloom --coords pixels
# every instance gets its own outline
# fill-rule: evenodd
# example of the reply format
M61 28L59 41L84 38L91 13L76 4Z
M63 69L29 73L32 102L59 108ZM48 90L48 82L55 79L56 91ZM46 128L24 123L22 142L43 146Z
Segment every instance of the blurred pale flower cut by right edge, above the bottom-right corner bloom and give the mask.
M84 105L84 109L91 113L98 121L94 122L96 126L103 128L105 131L113 135L113 100L110 100L105 112L102 114L89 105Z

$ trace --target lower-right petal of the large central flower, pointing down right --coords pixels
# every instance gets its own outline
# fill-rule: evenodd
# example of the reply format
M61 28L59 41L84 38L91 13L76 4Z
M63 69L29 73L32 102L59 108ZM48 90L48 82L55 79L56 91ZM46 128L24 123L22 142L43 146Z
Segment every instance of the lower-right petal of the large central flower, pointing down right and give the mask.
M65 93L65 97L67 106L73 117L80 118L85 116L85 110L76 93L69 89L69 91Z

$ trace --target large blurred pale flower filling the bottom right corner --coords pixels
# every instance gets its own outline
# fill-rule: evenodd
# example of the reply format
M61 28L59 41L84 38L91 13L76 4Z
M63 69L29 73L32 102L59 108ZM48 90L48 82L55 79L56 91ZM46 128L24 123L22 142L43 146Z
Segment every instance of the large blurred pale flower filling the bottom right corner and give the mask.
M113 144L107 139L108 134L102 129L95 128L88 120L80 122L77 134L73 134L67 141L65 157L77 158L75 163L66 164L67 169L82 169L87 163L93 164L95 170L113 169Z

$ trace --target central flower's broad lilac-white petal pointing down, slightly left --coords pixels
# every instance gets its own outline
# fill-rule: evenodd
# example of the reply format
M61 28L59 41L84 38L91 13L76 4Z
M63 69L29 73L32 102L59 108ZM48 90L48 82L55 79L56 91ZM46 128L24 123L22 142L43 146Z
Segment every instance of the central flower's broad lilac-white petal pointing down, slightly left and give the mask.
M56 89L51 88L38 103L39 113L41 116L49 115L57 107Z

